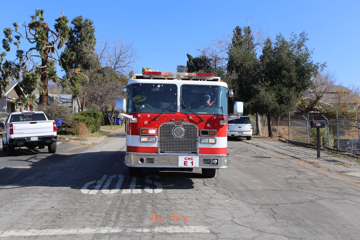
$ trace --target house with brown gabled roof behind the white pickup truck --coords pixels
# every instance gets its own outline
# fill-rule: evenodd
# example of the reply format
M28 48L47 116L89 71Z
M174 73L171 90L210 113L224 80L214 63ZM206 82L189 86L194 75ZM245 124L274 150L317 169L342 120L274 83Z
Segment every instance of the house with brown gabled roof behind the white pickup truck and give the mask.
M18 82L10 82L6 86L6 90L2 91L0 99L0 113L13 113L23 111L23 107L16 107L13 100L19 99L20 96L25 96L23 90L18 85Z

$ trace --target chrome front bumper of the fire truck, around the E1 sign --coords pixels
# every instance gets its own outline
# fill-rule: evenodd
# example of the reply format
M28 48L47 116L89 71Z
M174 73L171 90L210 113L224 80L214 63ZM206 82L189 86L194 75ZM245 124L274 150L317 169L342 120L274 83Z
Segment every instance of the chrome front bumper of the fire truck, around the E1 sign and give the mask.
M204 155L204 154L157 154L157 153L132 153L126 152L125 164L129 167L157 167L157 168L180 168L179 156L199 156L199 167L194 168L228 168L230 164L229 154ZM140 159L144 159L141 163ZM219 159L219 164L212 164L212 159ZM147 159L153 159L154 163L147 163ZM211 159L210 164L203 163L203 159ZM183 168L183 167L181 167Z

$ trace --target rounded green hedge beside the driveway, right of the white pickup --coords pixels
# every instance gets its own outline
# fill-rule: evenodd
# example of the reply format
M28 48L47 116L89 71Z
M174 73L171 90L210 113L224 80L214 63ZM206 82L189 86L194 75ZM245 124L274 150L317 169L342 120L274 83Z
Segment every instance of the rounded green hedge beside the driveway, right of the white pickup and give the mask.
M75 121L84 122L91 133L99 131L103 124L103 114L96 110L85 110L74 116Z

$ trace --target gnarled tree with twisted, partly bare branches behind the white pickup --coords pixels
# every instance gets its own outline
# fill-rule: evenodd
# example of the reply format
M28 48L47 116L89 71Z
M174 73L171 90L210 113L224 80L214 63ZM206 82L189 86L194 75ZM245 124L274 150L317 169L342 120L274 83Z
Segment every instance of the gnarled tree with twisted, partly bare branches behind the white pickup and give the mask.
M67 24L67 17L61 14L59 18L55 19L52 30L49 24L44 22L44 10L36 9L28 24L25 21L22 26L19 26L14 22L13 29L4 28L3 48L9 52L10 44L14 44L17 46L17 51L15 60L8 60L5 52L0 55L0 90L5 89L10 78L16 80L22 78L21 86L24 87L24 93L29 94L28 98L21 99L23 103L33 104L35 102L35 96L32 95L33 90L39 88L39 104L46 104L48 102L48 81L58 82L60 79L55 70L58 58L57 49L64 46L67 40L69 32ZM24 31L21 31L24 33L19 31L19 27L24 28ZM31 44L30 48L20 49L23 39ZM40 81L38 81L39 78Z

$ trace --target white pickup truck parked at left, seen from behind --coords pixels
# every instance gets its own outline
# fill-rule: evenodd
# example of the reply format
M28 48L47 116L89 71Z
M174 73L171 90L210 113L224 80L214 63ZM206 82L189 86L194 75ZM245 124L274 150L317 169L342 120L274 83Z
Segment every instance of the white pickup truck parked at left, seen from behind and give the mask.
M55 121L49 121L44 112L11 113L3 127L3 151L14 155L16 147L39 149L48 146L49 153L56 152L58 141Z

